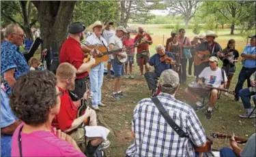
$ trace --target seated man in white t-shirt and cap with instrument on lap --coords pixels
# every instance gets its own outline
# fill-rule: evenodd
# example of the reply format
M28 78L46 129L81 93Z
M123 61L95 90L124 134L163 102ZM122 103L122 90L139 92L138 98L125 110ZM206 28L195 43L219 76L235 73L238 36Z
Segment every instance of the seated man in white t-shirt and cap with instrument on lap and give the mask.
M216 56L212 56L209 58L210 67L205 67L203 71L199 74L199 85L210 85L215 88L224 88L225 84L227 84L227 75L225 71L218 67L218 58ZM205 82L203 83L203 80ZM224 85L223 85L224 82ZM195 94L201 94L201 90L193 91L192 88L186 88L185 92L188 94L188 98L196 103L197 109L199 111L204 108L203 104L197 99ZM205 117L209 120L212 117L212 108L218 99L218 90L212 89L209 91L211 94L210 104L208 109L205 112Z

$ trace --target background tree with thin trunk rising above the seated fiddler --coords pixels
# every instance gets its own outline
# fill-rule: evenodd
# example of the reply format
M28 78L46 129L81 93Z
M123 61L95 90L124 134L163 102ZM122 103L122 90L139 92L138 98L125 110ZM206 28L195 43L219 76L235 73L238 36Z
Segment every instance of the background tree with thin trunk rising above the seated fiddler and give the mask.
M195 16L199 1L167 1L165 4L169 9L169 15L183 16L186 29L188 29L188 22Z

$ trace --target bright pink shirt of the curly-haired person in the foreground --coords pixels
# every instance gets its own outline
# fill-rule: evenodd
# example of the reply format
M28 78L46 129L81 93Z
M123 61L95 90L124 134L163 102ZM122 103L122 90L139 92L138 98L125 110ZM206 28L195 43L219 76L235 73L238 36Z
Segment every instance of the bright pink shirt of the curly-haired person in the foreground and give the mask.
M20 124L12 136L12 156L20 156L18 150L18 133ZM59 139L52 132L40 130L33 133L20 133L23 156L85 156L75 150L67 141Z

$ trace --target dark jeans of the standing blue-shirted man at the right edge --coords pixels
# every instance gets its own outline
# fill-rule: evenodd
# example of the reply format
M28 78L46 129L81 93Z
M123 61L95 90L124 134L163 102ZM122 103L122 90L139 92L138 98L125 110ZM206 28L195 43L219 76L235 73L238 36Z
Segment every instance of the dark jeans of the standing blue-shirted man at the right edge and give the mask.
M242 89L245 80L247 80L248 87L251 86L250 77L255 72L255 68L246 68L242 67L239 76L238 76L238 83L236 84L236 98L239 98L239 91Z

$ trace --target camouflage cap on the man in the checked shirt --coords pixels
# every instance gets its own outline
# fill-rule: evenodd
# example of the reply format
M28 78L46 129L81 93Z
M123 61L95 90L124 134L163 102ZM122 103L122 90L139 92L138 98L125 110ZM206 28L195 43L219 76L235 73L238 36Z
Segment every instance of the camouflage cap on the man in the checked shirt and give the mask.
M172 69L168 69L162 71L158 83L161 85L161 88L176 88L177 85L180 83L180 78L177 72L173 71Z

